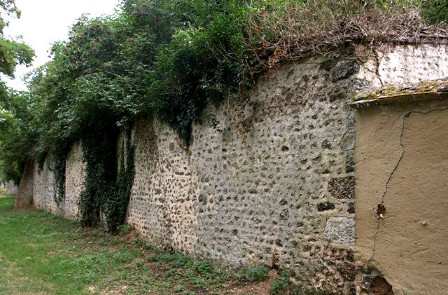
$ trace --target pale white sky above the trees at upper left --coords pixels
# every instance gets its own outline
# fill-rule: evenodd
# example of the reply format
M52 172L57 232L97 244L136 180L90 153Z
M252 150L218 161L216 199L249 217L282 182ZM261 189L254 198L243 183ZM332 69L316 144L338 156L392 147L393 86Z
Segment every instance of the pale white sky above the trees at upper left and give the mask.
M5 17L10 23L4 33L22 36L23 41L36 51L36 57L31 67L17 67L15 79L3 76L3 81L12 88L26 90L22 76L50 60L51 44L68 39L69 29L80 15L110 15L119 3L120 0L15 0L22 15L20 19Z

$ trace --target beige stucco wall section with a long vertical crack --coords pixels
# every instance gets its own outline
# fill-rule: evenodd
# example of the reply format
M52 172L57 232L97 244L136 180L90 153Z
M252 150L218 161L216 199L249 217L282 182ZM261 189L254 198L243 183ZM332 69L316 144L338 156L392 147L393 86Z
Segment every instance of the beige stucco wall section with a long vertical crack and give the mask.
M448 101L356 114L357 261L395 294L447 294L447 126Z

